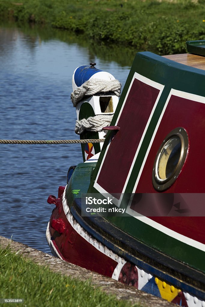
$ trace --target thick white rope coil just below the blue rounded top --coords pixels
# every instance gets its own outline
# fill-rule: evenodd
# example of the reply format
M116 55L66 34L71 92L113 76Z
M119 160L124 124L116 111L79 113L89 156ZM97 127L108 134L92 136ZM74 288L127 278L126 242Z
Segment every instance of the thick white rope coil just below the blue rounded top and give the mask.
M73 107L84 97L92 96L96 93L107 93L114 92L114 94L120 97L121 84L118 80L102 80L102 79L91 79L85 81L81 86L77 87L73 93L71 93L71 101Z

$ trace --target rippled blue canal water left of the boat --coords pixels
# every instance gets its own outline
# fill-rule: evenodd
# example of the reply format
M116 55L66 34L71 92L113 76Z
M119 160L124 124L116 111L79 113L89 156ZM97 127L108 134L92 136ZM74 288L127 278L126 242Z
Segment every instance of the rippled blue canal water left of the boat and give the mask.
M0 25L0 139L79 138L70 101L74 69L95 62L124 86L134 55L67 31ZM80 162L78 144L0 144L0 235L50 253L47 198Z

